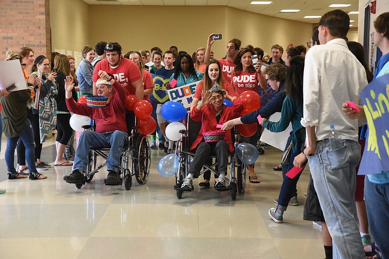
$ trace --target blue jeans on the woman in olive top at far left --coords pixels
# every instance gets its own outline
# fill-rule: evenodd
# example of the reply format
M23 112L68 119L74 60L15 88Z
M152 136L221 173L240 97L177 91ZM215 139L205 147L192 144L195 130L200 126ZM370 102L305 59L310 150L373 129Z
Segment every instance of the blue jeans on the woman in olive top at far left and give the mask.
M14 165L15 159L15 148L18 144L18 140L23 142L26 148L26 161L28 164L28 168L31 172L37 173L35 167L35 144L34 144L34 135L33 135L33 127L31 126L31 122L29 119L26 119L26 124L23 129L19 133L18 136L13 138L7 137L7 148L5 149L5 162L7 163L8 172L12 174L16 174L16 169Z

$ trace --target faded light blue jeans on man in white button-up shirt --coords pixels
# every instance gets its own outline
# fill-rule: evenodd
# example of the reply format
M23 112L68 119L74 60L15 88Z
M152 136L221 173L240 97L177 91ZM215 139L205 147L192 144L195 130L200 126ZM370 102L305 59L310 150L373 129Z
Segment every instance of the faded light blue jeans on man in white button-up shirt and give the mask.
M318 141L308 157L311 175L333 242L334 259L365 259L355 207L355 167L361 158L358 142L343 140L330 150L328 139Z

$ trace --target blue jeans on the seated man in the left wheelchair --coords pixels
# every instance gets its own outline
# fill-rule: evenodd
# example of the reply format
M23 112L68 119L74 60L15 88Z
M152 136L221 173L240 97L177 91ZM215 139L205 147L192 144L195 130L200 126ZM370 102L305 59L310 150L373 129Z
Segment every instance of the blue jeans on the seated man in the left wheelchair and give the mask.
M128 134L120 130L99 133L85 130L78 139L78 148L74 157L73 170L87 171L90 148L111 148L106 159L106 168L119 173L120 157L123 146L128 143Z

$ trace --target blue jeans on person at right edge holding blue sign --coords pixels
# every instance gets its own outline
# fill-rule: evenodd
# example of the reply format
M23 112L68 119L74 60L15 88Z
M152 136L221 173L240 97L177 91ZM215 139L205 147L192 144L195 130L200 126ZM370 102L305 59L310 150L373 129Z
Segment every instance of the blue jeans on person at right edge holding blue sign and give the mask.
M365 204L374 242L382 258L389 258L389 183L373 183L366 177Z

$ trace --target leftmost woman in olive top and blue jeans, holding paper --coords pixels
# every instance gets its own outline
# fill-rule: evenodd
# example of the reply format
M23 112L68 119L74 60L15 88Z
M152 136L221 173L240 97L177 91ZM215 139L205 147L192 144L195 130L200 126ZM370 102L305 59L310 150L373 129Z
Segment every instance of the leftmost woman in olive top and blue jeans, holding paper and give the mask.
M8 60L19 60L21 68L25 64L20 55L15 55L12 51L7 51ZM2 123L4 125L4 135L7 137L7 148L5 150L5 162L7 163L8 179L27 178L19 174L14 166L15 148L18 140L22 140L26 149L26 160L30 169L29 178L32 180L45 179L47 177L38 173L35 167L35 145L31 122L27 118L27 106L32 105L31 90L36 82L35 76L27 78L28 87L25 90L14 91L9 96L0 98L2 105ZM3 92L4 93L4 92Z

